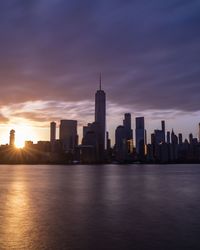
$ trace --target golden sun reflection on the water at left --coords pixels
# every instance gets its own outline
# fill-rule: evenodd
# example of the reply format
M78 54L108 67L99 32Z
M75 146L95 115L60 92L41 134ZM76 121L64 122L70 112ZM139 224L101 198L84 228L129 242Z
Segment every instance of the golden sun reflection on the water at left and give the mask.
M31 241L23 241L23 239L30 233L33 225L27 183L24 181L25 174L23 169L12 168L10 177L1 195L4 200L4 207L1 206L0 210L3 221L0 227L1 235L3 235L1 248L28 249Z

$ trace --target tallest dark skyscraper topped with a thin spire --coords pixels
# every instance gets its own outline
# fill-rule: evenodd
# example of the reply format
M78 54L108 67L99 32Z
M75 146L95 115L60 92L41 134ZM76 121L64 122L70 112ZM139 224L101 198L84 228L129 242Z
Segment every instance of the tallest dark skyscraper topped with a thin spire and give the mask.
M99 77L99 90L95 94L95 122L99 125L99 156L104 160L106 148L106 94L101 86L101 74Z

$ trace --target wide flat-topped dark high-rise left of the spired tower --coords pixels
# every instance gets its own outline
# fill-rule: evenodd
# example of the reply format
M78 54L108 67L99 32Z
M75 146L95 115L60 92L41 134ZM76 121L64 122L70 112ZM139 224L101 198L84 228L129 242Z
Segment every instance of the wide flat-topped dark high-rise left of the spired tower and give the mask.
M77 121L61 120L59 139L64 151L74 150L78 145Z

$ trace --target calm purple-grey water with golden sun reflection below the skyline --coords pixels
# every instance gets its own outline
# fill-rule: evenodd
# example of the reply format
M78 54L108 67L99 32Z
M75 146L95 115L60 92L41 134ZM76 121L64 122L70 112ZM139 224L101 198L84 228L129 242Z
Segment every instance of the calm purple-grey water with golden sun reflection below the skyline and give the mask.
M200 166L1 165L0 249L200 249Z

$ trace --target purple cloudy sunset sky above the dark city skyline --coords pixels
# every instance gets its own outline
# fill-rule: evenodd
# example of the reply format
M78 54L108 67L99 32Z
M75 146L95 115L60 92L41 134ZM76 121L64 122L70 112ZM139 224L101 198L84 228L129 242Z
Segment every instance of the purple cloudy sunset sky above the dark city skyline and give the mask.
M145 116L150 134L200 122L200 0L1 0L0 144L9 130L49 139L49 123L94 120L99 72L107 129Z

